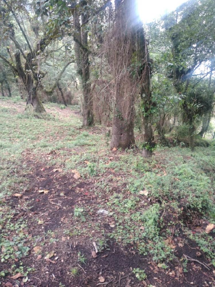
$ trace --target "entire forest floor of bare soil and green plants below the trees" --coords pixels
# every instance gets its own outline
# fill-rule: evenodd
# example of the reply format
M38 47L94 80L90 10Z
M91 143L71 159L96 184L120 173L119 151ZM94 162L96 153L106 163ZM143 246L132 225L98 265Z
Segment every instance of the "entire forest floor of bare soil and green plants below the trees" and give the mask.
M0 99L1 286L215 286L214 146L144 159L75 106L24 108Z

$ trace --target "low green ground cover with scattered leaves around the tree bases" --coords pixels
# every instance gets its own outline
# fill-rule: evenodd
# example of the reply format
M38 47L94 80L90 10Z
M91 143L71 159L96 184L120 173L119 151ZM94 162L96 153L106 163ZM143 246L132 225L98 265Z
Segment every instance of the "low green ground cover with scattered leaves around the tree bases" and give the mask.
M77 117L71 115L63 119L56 116L57 104L49 104L47 110L53 111L52 114L39 119L20 113L14 102L19 104L18 99L4 100L2 103L7 105L0 108L2 262L12 262L14 258L21 260L29 251L27 224L21 220L16 224L11 222L13 212L4 204L6 197L28 189L30 183L26 174L33 170L27 158L32 162L46 160L46 165L61 166L63 174L70 176L71 170L77 170L82 181L93 183L89 189L78 191L91 193L95 202L91 206L76 202L73 210L75 225L67 230L70 236L95 240L100 252L107 250L108 241L112 240L123 247L131 246L139 254L151 256L154 262L168 264L175 258L171 238L177 238L181 229L183 236L196 242L214 264L215 247L211 234L204 233L203 227L199 233L193 234L184 218L186 216L190 222L198 220L199 225L201 220L215 222L213 144L208 148L197 147L194 152L187 148L158 146L152 159L142 158L135 150L113 153L102 127L84 129ZM58 154L55 158L49 156L53 151ZM96 220L93 218L98 208L109 213L109 232L104 230L99 216ZM8 236L12 238L10 242ZM58 242L50 239L50 243ZM18 246L18 251L14 253L11 244ZM80 252L78 262L87 262ZM21 270L22 265L13 265L11 263L10 270L2 271L0 275ZM26 276L30 267L23 268ZM77 267L70 267L68 272L73 277L78 275ZM133 273L139 280L146 278L144 270L138 266Z

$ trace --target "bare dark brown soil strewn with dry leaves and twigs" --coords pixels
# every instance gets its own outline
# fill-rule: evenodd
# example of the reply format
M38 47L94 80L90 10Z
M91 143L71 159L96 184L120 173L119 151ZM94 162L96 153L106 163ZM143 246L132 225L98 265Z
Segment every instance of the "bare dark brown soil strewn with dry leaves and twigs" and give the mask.
M68 108L53 110L61 118L67 115L81 118L79 112ZM91 132L94 132L93 129ZM28 226L23 232L27 234L30 252L22 258L22 262L24 266L32 267L33 271L28 274L26 283L22 282L22 277L11 279L6 276L1 280L1 286L214 286L214 273L211 267L207 267L206 257L202 253L197 256L199 247L193 241L185 240L180 226L178 236L171 238L177 246L174 247L176 259L169 263L167 269L159 268L151 257L139 255L135 245L124 246L113 238L107 238L102 251L96 254L93 242L100 229L102 234L109 234L115 228L110 226L113 221L111 216L98 213L100 203L110 198L114 185L108 196L104 193L97 197L95 193L98 190L96 183L104 181L111 170L95 178L76 179L75 171L62 171L63 162L50 164L59 156L59 150L40 154L40 160L35 160L30 149L22 153L18 169L22 169L22 166L30 168L31 171L25 175L29 188L21 196L5 197L4 202L13 209L12 221L16 223L21 219ZM113 151L109 156L115 158L117 154ZM30 206L26 206L26 202L30 202ZM88 212L90 218L87 227L86 222L77 222L74 218L75 206L84 207ZM168 222L168 213L165 216ZM79 260L80 254L84 255L84 262ZM191 258L187 261L187 272L183 272L180 262L183 254ZM0 269L8 269L9 263L0 263ZM132 269L137 266L145 270L145 280L135 278ZM72 274L72 268L78 268L77 276Z

